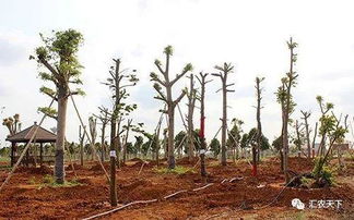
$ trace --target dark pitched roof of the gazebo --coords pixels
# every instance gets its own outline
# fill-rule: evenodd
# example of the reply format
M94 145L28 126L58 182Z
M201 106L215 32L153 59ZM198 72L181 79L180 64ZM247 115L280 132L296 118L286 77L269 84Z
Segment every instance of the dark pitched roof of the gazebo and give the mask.
M34 134L36 127L38 127L38 131L36 133L36 136L33 142L36 143L55 143L57 140L57 135L43 129L42 126L38 126L35 122L34 125L22 130L21 132L9 136L7 140L12 143L26 143L30 142L32 135Z

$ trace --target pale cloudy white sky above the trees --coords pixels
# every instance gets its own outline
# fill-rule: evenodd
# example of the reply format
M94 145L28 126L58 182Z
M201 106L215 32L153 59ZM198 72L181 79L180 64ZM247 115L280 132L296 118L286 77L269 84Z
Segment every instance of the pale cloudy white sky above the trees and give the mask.
M262 86L261 111L264 135L273 140L281 133L281 108L274 93L281 77L288 71L290 52L286 40L298 42L298 84L293 89L297 103L293 119L300 110L311 111L310 126L319 118L316 96L334 103L335 113L353 118L354 103L354 2L353 1L288 1L288 0L0 0L0 118L21 114L22 127L39 121L38 107L50 99L39 93L38 66L28 57L40 46L39 33L74 28L84 36L79 60L83 90L75 97L79 110L87 123L99 106L111 108L110 91L101 84L108 77L113 59L120 58L122 66L137 70L138 86L130 88L129 102L138 103L131 115L153 132L162 102L150 82L157 72L154 60L164 60L163 49L174 47L170 74L180 73L192 63L193 73L213 73L215 64L232 62L235 71L229 83L235 93L228 94L228 119L241 119L244 131L256 126L256 76L266 77ZM215 93L220 78L210 76L206 85L206 137L211 139L221 126L222 94ZM188 86L182 78L174 88L175 98ZM197 83L198 85L198 83ZM187 99L180 103L187 112ZM199 125L199 110L194 123ZM76 142L79 119L72 103L68 109L67 137ZM44 127L56 125L52 119ZM166 126L165 122L163 126ZM176 111L176 131L184 130ZM0 127L0 145L4 146L8 131ZM353 137L349 134L349 139ZM1 147L0 146L0 147Z

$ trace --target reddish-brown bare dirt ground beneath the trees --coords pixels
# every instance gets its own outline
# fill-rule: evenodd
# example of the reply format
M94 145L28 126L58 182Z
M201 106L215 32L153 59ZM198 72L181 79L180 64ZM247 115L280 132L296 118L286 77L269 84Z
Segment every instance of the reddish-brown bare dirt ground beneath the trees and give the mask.
M158 199L156 203L133 205L104 218L110 219L354 219L354 162L346 161L346 169L330 188L286 188L279 198L269 205L283 188L283 174L280 161L275 158L262 161L259 176L250 175L246 161L229 162L221 167L215 160L208 161L210 176L202 180L196 173L162 174L154 171L154 163L141 164L139 159L127 162L117 171L118 206L134 201ZM193 167L188 160L177 162ZM105 164L105 167L109 167ZM290 168L296 172L308 172L312 163L302 158L291 158ZM0 193L0 218L3 219L78 219L111 209L108 203L108 184L101 167L87 162L75 166L78 180L82 185L71 187L39 187L44 175L51 174L51 168L20 168L10 183ZM7 171L0 171L0 181ZM238 178L233 182L224 179ZM67 168L67 179L74 179L72 169ZM193 192L193 188L213 185ZM262 187L259 187L262 186ZM187 192L175 197L163 197L180 190ZM292 207L293 198L305 205L310 199L342 199L341 209L305 209ZM269 205L268 207L264 207Z

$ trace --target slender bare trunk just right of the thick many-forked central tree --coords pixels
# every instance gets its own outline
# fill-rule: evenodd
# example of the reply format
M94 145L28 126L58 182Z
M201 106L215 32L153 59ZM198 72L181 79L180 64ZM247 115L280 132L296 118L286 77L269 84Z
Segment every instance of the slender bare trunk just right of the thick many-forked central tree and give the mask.
M193 126L193 114L194 114L194 108L196 108L196 100L197 100L197 89L194 88L194 75L191 73L190 76L190 84L189 84L189 90L187 94L188 98L188 115L187 115L187 129L188 129L188 157L189 161L192 161L194 157L194 126Z

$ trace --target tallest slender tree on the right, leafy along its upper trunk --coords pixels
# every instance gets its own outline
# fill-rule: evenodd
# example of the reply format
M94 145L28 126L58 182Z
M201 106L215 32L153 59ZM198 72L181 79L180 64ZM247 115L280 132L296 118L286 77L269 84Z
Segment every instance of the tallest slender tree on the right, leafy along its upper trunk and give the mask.
M283 168L285 182L290 182L290 173L287 169L288 163L288 131L287 125L290 123L290 115L294 111L295 102L292 96L292 88L296 85L298 74L294 71L294 65L297 60L297 54L294 53L294 49L297 47L297 42L293 42L293 38L287 41L290 49L290 71L286 76L282 78L282 85L279 87L276 93L278 102L282 107L282 138L283 138Z

